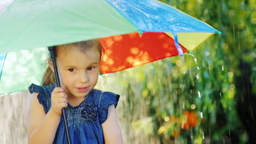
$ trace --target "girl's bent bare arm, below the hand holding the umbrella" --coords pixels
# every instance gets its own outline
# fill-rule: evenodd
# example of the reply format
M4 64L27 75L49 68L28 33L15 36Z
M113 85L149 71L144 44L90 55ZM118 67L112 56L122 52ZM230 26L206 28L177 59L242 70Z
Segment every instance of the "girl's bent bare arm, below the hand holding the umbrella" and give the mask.
M38 93L33 93L28 111L27 129L28 143L53 143L60 116L49 110L47 114L37 99Z

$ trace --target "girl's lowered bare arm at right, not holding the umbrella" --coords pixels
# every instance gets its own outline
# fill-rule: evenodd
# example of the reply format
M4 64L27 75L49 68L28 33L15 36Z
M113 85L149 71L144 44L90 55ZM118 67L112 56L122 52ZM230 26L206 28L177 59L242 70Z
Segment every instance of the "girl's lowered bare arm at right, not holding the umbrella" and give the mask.
M101 124L104 134L104 141L106 144L123 143L122 133L118 124L117 112L115 106L108 107L108 117L104 123Z

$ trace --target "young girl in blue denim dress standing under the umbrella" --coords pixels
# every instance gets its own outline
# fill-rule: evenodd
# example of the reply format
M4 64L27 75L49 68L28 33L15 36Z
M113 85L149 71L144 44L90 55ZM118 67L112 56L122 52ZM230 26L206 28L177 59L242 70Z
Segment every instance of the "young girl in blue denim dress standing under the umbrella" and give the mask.
M66 107L71 142L123 143L115 107L119 95L94 89L102 46L97 40L59 45L56 62L61 87L48 59L43 86L32 83L28 143L67 143L61 110Z

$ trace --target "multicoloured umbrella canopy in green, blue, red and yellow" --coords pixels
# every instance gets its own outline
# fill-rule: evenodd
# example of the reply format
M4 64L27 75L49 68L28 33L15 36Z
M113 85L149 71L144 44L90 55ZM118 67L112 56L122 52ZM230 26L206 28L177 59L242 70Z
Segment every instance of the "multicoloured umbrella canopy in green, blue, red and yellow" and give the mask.
M47 52L33 48L101 38L106 49L101 73L106 74L183 55L218 33L154 0L11 0L0 5L0 32L0 53L8 52L0 93L39 83L43 68L37 65Z

